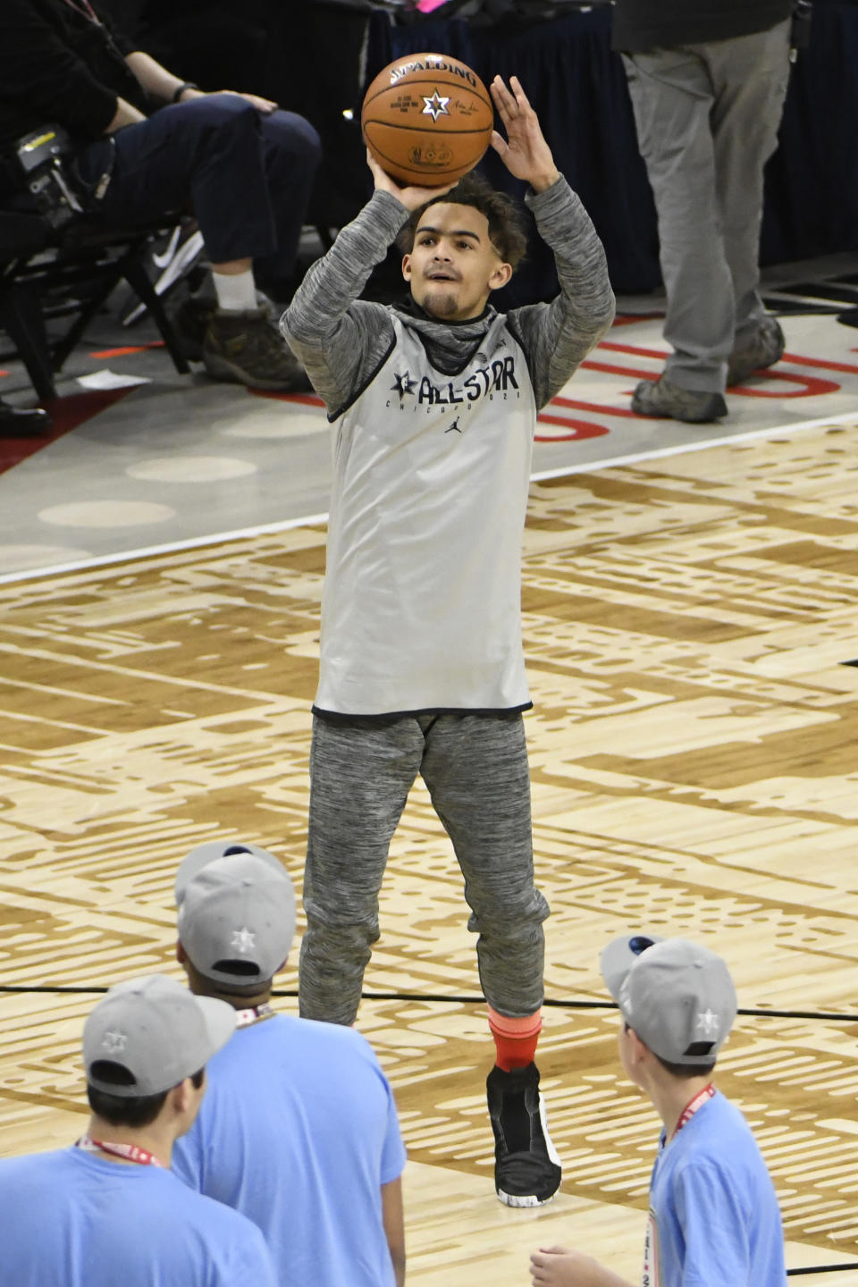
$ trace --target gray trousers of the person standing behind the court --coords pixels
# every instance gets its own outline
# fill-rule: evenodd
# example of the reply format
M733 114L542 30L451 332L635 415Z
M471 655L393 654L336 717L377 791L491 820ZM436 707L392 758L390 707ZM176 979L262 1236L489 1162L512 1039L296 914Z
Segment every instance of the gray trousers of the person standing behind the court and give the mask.
M720 393L756 331L763 167L777 147L790 22L732 40L623 55L659 216L668 378Z

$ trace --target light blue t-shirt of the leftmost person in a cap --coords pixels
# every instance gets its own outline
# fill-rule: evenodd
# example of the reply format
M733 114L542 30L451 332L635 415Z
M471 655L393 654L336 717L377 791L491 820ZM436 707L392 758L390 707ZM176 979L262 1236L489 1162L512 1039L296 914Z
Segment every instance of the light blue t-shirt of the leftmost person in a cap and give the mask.
M161 1167L12 1157L0 1211L0 1287L277 1287L260 1230Z

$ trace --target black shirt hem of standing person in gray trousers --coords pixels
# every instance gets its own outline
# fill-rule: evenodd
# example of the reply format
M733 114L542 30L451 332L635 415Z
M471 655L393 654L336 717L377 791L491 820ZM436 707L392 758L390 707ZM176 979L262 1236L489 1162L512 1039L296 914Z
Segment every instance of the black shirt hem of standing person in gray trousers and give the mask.
M614 49L642 53L768 31L792 0L615 0Z

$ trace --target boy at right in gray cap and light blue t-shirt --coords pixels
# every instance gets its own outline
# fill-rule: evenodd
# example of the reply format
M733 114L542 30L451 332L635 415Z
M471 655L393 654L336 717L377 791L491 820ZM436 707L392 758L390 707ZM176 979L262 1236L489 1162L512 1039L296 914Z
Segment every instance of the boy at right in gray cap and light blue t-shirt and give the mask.
M736 1018L727 965L684 938L614 940L602 974L620 1006L620 1063L664 1127L650 1181L643 1287L786 1287L772 1180L710 1075ZM629 1287L566 1247L535 1251L538 1287Z

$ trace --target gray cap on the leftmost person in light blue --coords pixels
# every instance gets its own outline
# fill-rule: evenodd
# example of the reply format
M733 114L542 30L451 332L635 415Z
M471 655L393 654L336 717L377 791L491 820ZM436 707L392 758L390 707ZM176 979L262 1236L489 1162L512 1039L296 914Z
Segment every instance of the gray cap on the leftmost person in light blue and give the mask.
M132 978L109 988L84 1024L86 1080L122 1098L157 1095L203 1068L234 1031L226 1001L194 996L166 974ZM100 1076L108 1072L99 1069L102 1060L130 1080L117 1085Z

